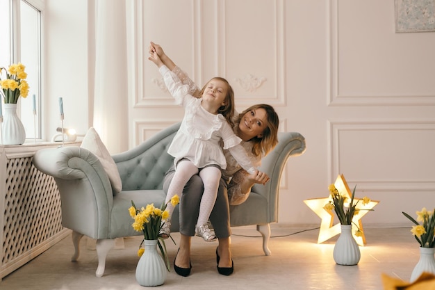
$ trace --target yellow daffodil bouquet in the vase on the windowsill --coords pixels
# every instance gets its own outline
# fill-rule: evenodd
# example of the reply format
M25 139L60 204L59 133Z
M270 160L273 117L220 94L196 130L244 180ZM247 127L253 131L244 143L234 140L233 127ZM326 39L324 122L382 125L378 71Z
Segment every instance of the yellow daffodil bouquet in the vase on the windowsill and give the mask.
M27 97L28 83L26 67L22 63L12 64L9 69L0 67L0 87L3 91L5 104L17 104L19 96ZM6 72L6 79L1 79L3 71Z

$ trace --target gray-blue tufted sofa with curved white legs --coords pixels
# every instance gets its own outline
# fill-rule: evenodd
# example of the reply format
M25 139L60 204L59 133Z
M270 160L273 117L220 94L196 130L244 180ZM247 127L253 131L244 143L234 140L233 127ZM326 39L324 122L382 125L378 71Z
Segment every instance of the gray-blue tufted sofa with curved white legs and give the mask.
M158 206L165 200L162 190L165 172L172 166L167 154L179 123L163 129L137 147L113 155L122 191L113 195L110 182L97 156L81 147L59 147L39 150L33 163L40 171L54 177L60 193L62 224L72 229L75 252L79 257L79 241L83 235L97 239L97 277L104 274L106 255L113 248L115 238L138 236L131 227L131 200L138 207L149 203ZM256 225L263 236L263 251L270 255L268 240L270 223L277 222L278 193L286 161L305 151L304 137L295 132L279 133L279 143L262 161L261 170L268 173L270 182L256 184L243 204L230 207L231 227ZM172 216L172 232L179 229L179 211Z

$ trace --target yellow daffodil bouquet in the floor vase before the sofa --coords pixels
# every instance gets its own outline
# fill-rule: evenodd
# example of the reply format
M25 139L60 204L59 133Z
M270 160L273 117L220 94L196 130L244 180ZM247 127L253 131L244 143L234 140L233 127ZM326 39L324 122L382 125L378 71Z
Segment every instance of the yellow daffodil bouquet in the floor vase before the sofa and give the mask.
M173 207L175 207L179 201L179 196L174 195L169 202ZM167 204L169 204L169 202L163 202L161 207L154 207L154 204L147 204L147 207L142 207L139 210L132 200L131 207L129 208L130 216L134 220L134 223L131 226L136 232L143 232L145 240L157 240L158 248L160 249L163 260L165 261L167 271L170 271L170 262L166 255L165 240L158 236L158 232L160 231L163 223L165 223L169 217L169 212L166 210ZM170 238L172 239L172 236L170 236ZM174 239L172 239L172 241L175 243ZM143 240L139 245L139 257L141 257L145 252L145 249L142 248L142 244Z

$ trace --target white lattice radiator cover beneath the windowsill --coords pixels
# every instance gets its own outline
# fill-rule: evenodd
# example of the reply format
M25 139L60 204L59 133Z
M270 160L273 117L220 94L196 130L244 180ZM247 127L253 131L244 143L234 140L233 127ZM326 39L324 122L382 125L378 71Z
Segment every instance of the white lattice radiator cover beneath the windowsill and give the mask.
M58 144L0 146L0 280L70 232L62 226L54 178L32 163L35 151L47 147Z

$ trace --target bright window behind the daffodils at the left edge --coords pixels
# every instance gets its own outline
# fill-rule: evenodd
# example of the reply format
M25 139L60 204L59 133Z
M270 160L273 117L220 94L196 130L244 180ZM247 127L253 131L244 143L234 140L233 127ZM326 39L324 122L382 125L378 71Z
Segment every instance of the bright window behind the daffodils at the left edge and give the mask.
M11 63L26 65L30 88L26 99L20 97L17 113L26 129L26 138L32 139L41 138L41 7L41 0L0 0L0 27L4 32L0 33L0 66L8 69Z

